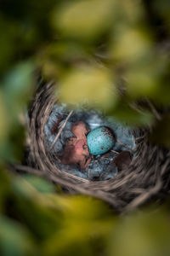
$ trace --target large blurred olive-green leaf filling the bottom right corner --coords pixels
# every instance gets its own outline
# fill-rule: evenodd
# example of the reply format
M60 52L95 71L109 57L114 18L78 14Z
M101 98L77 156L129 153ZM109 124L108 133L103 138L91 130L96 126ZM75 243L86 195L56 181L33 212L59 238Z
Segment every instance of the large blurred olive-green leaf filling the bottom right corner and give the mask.
M168 256L169 214L162 210L141 212L122 218L113 231L109 255Z

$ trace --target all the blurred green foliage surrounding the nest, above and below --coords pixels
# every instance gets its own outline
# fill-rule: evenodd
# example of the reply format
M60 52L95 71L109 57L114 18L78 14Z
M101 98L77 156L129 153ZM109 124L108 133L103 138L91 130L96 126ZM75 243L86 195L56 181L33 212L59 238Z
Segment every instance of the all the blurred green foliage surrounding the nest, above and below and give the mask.
M168 206L118 217L101 201L62 195L4 165L22 159L39 68L72 108L152 125L150 141L169 147L169 115L157 122L148 106L132 108L145 98L169 108L169 11L169 0L1 0L1 255L169 255Z

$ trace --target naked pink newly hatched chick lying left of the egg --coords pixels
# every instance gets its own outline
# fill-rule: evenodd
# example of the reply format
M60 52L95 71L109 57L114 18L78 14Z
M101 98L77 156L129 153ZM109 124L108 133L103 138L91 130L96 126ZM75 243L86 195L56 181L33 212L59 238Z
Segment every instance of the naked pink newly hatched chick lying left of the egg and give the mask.
M78 121L72 126L71 132L76 137L71 137L65 145L61 162L70 166L78 164L81 169L85 169L91 161L86 138L88 130L82 121Z

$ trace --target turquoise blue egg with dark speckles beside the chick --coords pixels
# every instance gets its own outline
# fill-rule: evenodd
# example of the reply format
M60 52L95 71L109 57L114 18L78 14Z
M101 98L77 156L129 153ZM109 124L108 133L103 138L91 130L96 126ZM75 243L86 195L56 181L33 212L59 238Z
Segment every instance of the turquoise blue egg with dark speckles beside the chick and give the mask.
M111 129L100 126L90 131L87 136L90 154L105 154L115 144L115 137Z

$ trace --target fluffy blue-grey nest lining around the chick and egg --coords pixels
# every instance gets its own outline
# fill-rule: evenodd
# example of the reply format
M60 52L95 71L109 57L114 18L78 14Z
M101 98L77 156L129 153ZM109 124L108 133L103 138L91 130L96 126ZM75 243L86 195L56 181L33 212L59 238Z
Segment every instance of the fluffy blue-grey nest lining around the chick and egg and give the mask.
M118 172L118 168L112 163L113 160L116 162L117 154L128 149L133 156L133 150L135 148L133 131L130 129L130 127L122 125L121 123L116 122L114 119L106 119L104 116L102 116L101 113L99 113L99 111L97 112L94 110L79 109L74 113L71 113L71 116L68 119L69 113L71 112L66 108L65 104L61 106L55 104L52 108L52 112L48 117L48 122L44 127L46 147L47 150L51 149L51 154L54 156L54 164L59 168L59 170L63 172L68 172L78 177L90 179L92 181L107 180L111 177L114 177ZM67 120L65 122L66 118ZM67 143L68 139L73 136L73 134L71 134L71 126L78 121L83 121L86 123L90 131L99 126L110 127L111 131L113 131L116 136L116 144L112 150L106 154L94 156L93 160L91 160L90 164L88 167L86 167L85 170L81 170L80 166L76 165L64 165L59 160L59 158L62 157L65 144ZM59 126L62 128L62 125L65 125L65 128L62 129L57 142L54 143L55 138L59 134ZM54 145L54 148L52 148L52 145ZM123 155L121 156L119 154L119 158L120 157L123 158Z

